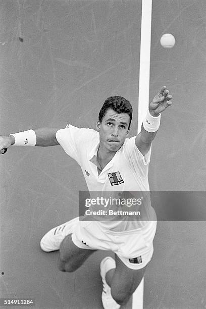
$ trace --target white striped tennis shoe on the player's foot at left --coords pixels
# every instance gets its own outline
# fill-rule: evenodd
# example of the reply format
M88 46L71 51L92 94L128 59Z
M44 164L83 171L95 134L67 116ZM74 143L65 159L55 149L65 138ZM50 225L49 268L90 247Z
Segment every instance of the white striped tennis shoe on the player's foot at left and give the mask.
M40 241L41 249L45 252L59 250L61 242L67 235L73 233L77 222L79 222L79 217L56 226L52 230L48 231Z

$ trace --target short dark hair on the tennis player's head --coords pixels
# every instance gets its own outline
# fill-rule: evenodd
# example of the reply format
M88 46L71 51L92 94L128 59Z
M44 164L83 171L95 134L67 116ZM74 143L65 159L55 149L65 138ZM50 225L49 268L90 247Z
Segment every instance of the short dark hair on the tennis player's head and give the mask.
M121 114L121 113L126 113L129 115L130 118L130 123L129 127L132 121L132 106L126 98L123 96L115 95L115 96L110 96L108 97L104 104L102 105L102 108L100 109L99 115L98 115L98 120L101 123L102 118L105 116L107 110L112 109L116 113ZM129 128L128 128L129 129Z

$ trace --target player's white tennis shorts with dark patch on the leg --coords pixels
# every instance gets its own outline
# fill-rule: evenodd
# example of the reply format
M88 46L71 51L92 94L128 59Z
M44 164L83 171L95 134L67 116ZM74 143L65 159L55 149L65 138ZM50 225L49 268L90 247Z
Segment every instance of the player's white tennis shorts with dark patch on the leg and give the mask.
M72 241L81 249L111 250L128 268L141 269L151 260L156 228L157 221L150 221L144 228L114 232L97 221L79 221Z

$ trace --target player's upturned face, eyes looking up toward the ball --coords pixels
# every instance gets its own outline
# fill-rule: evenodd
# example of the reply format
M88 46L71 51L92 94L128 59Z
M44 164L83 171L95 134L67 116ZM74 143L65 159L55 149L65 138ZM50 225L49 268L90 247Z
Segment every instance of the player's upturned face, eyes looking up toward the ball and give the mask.
M101 123L97 121L100 145L109 151L117 151L123 145L129 133L130 117L126 113L118 114L114 110L107 110Z

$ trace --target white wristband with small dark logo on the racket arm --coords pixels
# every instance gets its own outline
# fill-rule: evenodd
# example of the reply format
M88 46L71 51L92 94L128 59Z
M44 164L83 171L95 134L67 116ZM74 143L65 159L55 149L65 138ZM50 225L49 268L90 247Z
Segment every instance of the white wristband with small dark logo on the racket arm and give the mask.
M15 146L35 146L36 133L34 130L23 131L19 133L10 134L15 138Z

